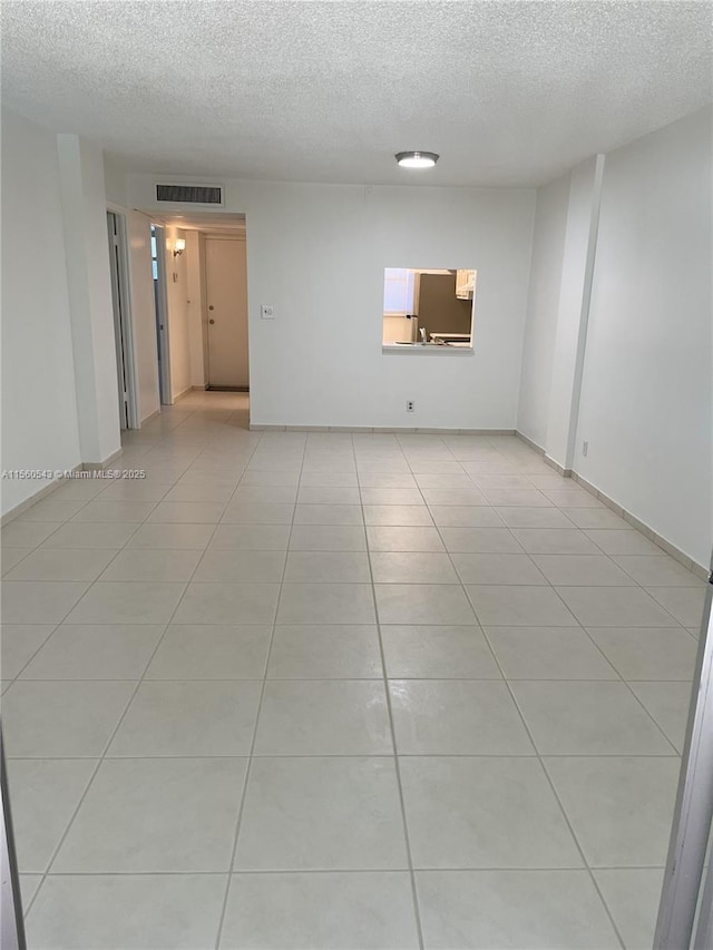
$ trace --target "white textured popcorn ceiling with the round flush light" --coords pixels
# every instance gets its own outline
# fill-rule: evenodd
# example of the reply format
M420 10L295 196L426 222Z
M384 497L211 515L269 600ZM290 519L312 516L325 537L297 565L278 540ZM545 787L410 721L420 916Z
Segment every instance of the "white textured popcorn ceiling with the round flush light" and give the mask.
M709 2L0 8L7 104L136 170L539 184L711 99ZM441 160L399 169L408 148Z

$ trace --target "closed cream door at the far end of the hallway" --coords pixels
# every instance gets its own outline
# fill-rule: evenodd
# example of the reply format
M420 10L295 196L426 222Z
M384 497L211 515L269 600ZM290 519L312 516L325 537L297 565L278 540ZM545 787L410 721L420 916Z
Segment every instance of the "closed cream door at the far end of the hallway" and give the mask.
M206 237L208 385L247 389L247 262L245 241Z

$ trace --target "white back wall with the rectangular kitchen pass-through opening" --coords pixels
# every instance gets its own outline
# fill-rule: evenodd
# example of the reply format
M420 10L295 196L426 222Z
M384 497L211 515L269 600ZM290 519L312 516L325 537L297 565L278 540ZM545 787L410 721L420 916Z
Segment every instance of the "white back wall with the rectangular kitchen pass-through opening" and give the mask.
M131 205L152 180L129 176ZM246 213L252 422L515 428L533 189L233 180L226 199ZM384 267L475 267L475 355L382 354Z

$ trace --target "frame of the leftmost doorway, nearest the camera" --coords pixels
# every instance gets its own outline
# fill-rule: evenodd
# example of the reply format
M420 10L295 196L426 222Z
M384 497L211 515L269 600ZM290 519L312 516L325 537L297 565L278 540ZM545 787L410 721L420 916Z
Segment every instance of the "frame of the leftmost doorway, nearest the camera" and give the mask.
M117 395L119 405L126 405L126 425L120 414L121 429L139 429L138 398L136 381L136 350L134 345L134 320L131 314L131 280L129 275L129 255L127 242L126 214L116 205L107 204L107 242L109 252L109 281L111 284L111 307L114 317L114 340L117 358ZM109 232L110 216L114 217L114 235ZM119 366L124 368L124 385L119 380Z

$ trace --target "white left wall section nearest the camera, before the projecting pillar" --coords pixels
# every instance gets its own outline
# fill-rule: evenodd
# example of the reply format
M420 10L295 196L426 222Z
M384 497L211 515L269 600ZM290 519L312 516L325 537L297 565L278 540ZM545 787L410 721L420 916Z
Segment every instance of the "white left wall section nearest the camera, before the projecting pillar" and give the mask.
M81 461L64 241L57 138L3 109L3 469ZM2 511L48 482L3 480Z

